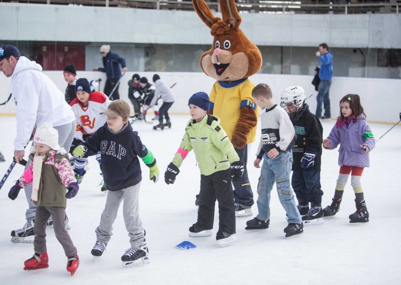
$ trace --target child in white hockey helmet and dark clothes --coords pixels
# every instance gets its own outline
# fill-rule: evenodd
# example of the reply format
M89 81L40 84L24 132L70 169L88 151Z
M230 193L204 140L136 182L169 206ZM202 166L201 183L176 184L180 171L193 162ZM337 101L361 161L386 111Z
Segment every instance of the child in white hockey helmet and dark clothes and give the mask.
M309 111L301 86L286 88L281 93L280 105L287 111L295 129L291 186L298 199L299 213L305 226L323 223L323 191L320 186L323 127Z

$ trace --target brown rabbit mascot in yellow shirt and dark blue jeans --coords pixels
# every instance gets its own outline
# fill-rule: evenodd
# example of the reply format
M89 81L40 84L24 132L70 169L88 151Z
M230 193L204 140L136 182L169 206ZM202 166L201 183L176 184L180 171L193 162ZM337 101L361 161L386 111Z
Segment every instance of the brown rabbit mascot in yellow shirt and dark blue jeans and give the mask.
M209 113L218 116L245 162L241 179L233 181L236 216L252 215L253 193L248 179L247 144L255 140L258 109L248 79L262 65L262 55L240 29L241 16L234 0L220 0L223 19L215 17L204 0L192 0L199 18L211 29L212 48L200 57L200 68L218 80L210 93Z

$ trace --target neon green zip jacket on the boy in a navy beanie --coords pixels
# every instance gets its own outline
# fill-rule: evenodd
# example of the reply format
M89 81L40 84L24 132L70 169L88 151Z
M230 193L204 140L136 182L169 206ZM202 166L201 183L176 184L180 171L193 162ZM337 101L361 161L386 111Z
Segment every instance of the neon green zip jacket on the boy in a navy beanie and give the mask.
M220 126L220 119L212 115L206 115L198 123L192 119L188 121L181 145L172 160L173 165L179 168L192 149L200 174L203 175L227 170L233 162L240 160L229 137Z

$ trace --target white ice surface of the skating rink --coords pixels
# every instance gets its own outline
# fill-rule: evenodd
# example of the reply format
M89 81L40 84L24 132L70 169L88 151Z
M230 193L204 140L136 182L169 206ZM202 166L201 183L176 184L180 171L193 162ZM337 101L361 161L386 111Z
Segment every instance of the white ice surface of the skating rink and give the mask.
M149 115L149 118L151 116ZM93 262L90 251L96 241L95 228L100 221L106 196L100 192L102 180L94 157L89 159L78 195L67 203L71 238L78 248L80 266L74 277L66 271L67 258L53 229L47 230L49 268L24 271L24 260L33 253L32 244L13 244L10 232L25 224L27 202L25 193L12 201L9 189L23 172L17 165L0 191L0 266L1 284L399 284L401 233L401 126L394 127L376 144L370 153L370 168L363 172L361 183L369 223L352 226L348 215L355 211L350 179L340 211L325 218L320 226L304 227L304 233L286 239L285 211L272 191L270 227L246 231L247 220L256 216L256 186L260 170L253 167L258 142L249 148L248 172L255 193L254 213L236 218L237 238L234 245L220 247L215 239L218 229L218 209L215 213L214 235L188 237L188 227L196 221L195 194L199 190L200 174L193 153L180 168L176 182L166 185L164 171L178 149L189 115L172 115L172 128L155 131L151 124L137 121L135 130L151 150L160 169L157 184L149 181L149 171L141 162L142 182L139 196L140 217L146 229L150 264L125 269L121 255L129 247L129 238L120 212L114 223L113 236L101 259ZM394 114L394 122L397 114ZM324 138L334 120L322 121ZM0 150L6 162L0 163L0 175L8 169L13 157L16 117L0 117L2 138ZM370 124L376 139L391 125ZM258 124L260 133L260 124ZM27 148L28 150L29 148ZM338 148L337 148L338 150ZM321 184L322 206L331 202L338 176L337 150L323 150ZM28 154L28 152L27 152ZM175 245L190 241L197 248L177 250Z

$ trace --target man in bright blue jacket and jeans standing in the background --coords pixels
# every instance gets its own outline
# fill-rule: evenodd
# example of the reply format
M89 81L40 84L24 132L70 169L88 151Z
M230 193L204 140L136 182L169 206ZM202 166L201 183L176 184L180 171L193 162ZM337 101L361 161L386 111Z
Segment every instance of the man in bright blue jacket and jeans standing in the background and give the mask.
M330 97L329 90L331 86L331 78L333 77L333 54L328 51L329 47L326 43L319 45L319 51L316 56L320 61L319 78L320 83L317 93L317 107L315 115L321 119L331 117L330 113ZM324 106L324 116L322 116L322 103Z

